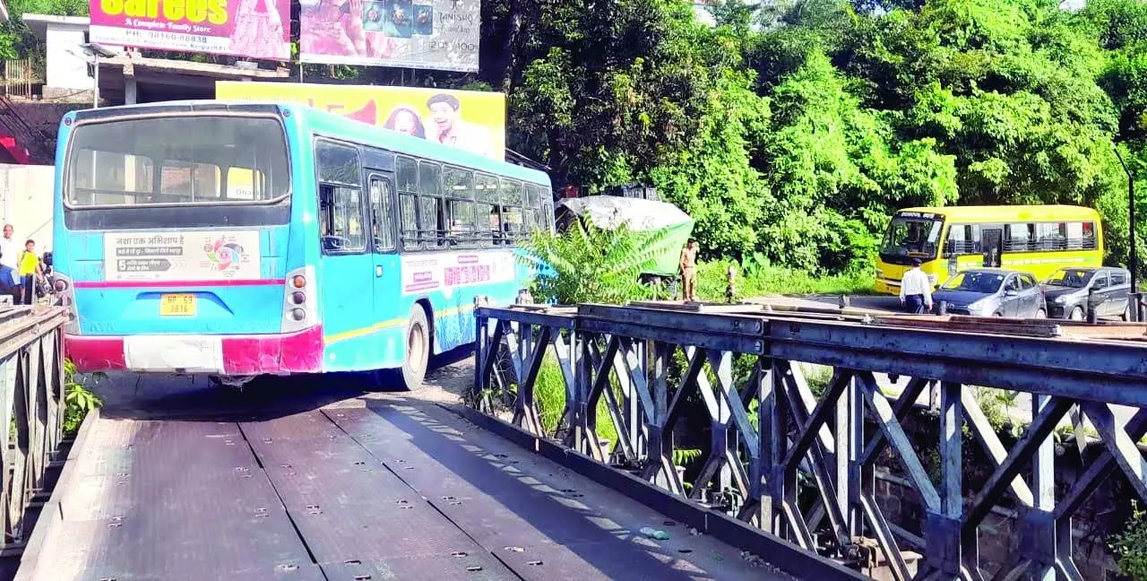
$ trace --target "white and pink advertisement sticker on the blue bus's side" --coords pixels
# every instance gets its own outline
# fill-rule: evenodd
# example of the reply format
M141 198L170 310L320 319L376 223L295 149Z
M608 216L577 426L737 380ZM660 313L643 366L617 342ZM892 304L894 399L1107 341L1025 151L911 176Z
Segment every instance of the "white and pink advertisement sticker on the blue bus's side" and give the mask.
M514 274L510 253L403 256L403 294L509 282Z

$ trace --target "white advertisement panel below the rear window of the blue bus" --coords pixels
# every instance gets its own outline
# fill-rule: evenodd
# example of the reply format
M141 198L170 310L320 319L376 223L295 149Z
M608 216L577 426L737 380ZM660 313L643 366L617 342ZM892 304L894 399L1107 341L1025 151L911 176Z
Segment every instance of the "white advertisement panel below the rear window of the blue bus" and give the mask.
M259 278L259 232L108 232L107 280L247 280Z

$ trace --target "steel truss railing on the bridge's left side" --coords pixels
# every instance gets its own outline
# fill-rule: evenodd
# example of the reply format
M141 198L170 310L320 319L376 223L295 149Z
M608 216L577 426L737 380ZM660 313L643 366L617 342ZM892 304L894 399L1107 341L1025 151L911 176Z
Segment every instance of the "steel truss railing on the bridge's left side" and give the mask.
M34 524L29 508L42 502L49 470L63 441L64 373L57 307L0 310L0 552L19 551Z

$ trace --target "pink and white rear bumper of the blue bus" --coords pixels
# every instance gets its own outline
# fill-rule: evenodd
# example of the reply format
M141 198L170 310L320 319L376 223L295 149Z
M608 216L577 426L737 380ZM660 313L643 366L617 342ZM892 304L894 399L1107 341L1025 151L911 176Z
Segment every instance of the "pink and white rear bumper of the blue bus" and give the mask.
M80 372L258 375L322 371L322 327L273 335L64 335Z

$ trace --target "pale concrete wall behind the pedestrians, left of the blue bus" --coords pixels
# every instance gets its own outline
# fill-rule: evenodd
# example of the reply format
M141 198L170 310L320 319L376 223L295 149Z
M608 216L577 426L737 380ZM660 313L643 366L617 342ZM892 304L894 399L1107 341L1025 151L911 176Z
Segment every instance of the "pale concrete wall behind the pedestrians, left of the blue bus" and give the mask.
M36 240L38 254L52 249L55 168L0 164L0 223L11 224L19 243Z

